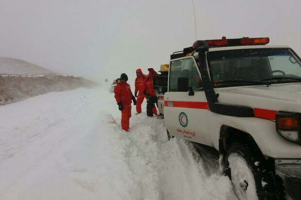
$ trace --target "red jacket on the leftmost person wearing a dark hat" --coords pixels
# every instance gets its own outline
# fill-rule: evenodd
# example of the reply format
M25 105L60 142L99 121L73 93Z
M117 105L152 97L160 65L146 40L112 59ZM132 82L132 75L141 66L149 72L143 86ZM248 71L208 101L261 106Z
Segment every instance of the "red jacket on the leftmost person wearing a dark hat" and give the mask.
M133 93L128 83L123 83L119 78L116 79L117 85L114 89L116 102L121 102L123 106L130 106L132 103Z

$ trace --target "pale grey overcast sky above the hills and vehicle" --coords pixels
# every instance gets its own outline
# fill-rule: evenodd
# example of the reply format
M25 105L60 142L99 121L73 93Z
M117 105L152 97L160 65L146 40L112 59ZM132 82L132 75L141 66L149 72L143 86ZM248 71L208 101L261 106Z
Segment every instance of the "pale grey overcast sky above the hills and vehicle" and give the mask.
M194 7L198 40L269 37L301 55L301 0L194 0ZM195 40L192 0L0 0L0 57L98 82L158 71Z

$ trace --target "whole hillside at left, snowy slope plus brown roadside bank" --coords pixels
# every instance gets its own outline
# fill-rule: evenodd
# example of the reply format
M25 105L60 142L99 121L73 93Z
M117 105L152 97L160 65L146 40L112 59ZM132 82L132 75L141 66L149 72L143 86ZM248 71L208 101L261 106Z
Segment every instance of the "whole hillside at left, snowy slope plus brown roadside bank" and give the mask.
M62 76L29 62L0 57L0 106L48 92L97 85L82 77Z

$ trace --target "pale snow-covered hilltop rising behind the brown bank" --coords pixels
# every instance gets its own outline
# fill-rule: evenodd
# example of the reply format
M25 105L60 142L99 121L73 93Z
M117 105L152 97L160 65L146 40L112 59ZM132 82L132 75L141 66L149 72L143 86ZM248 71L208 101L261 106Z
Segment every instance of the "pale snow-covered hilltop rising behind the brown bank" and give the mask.
M45 69L41 66L35 65L30 62L25 62L13 58L0 57L0 74L13 74L13 75L45 75L56 74L54 71Z

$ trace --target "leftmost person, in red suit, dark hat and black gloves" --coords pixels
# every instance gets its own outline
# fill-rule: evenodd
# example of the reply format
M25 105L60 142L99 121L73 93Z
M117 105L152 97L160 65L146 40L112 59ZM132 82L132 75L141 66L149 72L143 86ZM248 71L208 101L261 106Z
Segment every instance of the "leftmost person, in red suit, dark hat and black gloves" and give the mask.
M131 92L131 87L127 83L128 76L125 73L116 79L117 85L114 89L115 99L118 109L121 111L121 128L128 131L130 128L130 118L132 117L132 100L136 105L136 99Z

